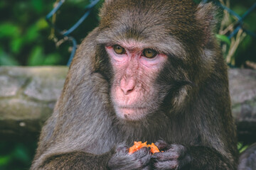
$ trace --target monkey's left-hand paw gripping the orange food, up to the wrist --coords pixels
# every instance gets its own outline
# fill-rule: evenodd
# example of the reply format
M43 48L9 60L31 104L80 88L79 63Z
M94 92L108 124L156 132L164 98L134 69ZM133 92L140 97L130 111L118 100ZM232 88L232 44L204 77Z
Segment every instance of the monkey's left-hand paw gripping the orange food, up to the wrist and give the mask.
M149 169L151 154L149 148L142 147L133 154L128 153L129 148L123 145L117 147L116 152L107 163L108 169Z

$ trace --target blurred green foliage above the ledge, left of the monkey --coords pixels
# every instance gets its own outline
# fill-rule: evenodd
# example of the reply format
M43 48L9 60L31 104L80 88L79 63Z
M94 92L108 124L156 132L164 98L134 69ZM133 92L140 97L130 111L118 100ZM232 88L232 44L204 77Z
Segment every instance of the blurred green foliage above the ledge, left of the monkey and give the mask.
M70 57L68 49L72 44L65 41L57 48L49 39L51 28L45 17L52 10L53 3L51 0L0 2L0 65L67 64ZM60 30L70 28L85 13L87 4L89 0L65 1L56 15L55 25ZM78 43L97 26L97 8L71 34ZM55 39L62 39L58 33L54 35Z

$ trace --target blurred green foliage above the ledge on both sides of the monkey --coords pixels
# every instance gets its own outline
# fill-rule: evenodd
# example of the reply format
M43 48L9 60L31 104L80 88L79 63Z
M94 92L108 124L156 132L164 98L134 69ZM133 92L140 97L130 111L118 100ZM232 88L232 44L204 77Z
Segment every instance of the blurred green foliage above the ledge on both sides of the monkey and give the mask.
M197 4L201 0L194 0ZM103 0L92 10L90 16L73 32L71 35L78 40L78 44L87 33L97 26L98 8L102 5ZM230 8L242 16L255 1L246 0L230 1ZM45 20L46 14L53 8L54 1L50 0L28 0L28 1L8 1L0 2L0 65L50 65L66 64L70 57L69 47L72 45L69 41L64 41L58 47L55 42L49 39L52 30ZM55 25L60 30L68 30L78 19L85 13L85 6L89 0L67 0L61 6L56 15ZM75 11L75 12L73 12ZM244 28L256 32L256 11L250 13L245 18ZM235 18L230 17L230 21ZM88 24L90 23L90 24ZM55 40L62 37L54 33ZM224 55L228 55L230 40L227 35L216 35L221 44L225 44ZM53 38L53 37L52 37ZM256 40L247 35L232 58L235 65L240 66L246 60L256 62ZM60 57L61 56L61 57Z

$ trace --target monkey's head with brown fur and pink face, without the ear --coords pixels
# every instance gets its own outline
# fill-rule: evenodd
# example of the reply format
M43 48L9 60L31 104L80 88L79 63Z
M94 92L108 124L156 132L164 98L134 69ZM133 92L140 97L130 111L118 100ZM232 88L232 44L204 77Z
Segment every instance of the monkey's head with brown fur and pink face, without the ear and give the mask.
M182 107L203 40L196 6L187 5L193 1L119 0L102 8L99 56L111 67L102 74L113 72L105 77L119 118L142 120L159 108Z

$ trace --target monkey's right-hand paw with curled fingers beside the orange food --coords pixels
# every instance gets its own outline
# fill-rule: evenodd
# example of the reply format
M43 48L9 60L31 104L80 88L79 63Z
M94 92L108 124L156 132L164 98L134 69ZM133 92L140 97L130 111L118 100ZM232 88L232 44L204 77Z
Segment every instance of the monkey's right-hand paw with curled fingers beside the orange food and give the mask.
M164 141L158 141L155 145L160 152L153 155L154 169L186 169L191 162L191 156L183 145L169 145Z

